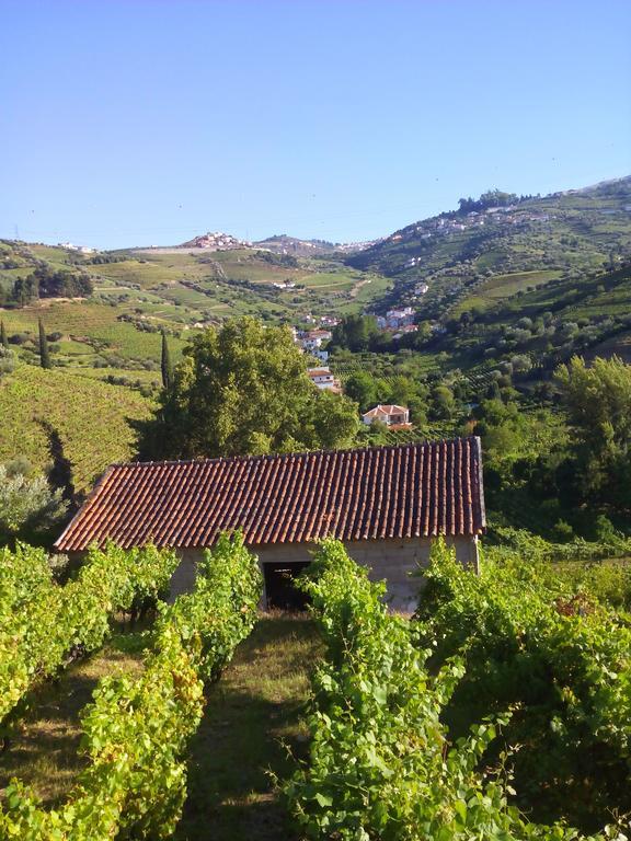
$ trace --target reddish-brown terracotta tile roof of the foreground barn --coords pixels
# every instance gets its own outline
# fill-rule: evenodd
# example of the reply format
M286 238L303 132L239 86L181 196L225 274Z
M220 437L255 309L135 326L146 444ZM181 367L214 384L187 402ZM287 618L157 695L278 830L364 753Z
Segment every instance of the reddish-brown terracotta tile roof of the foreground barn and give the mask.
M473 535L485 527L480 439L111 466L61 534L80 551Z

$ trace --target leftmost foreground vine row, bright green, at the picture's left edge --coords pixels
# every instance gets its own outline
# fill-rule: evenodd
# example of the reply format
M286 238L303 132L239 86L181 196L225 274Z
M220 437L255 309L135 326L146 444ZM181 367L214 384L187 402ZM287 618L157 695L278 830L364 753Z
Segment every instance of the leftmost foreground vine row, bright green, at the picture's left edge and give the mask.
M60 587L43 550L0 550L0 723L37 681L100 648L115 612L153 603L176 565L171 551L110 544L91 549L77 578Z

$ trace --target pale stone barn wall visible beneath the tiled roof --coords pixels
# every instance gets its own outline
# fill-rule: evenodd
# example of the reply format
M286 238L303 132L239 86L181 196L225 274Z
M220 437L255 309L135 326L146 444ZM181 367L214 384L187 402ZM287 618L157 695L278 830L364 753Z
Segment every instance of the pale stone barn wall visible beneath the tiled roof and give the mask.
M456 548L456 557L462 564L472 564L478 568L478 542L475 538L454 538L447 540L448 545ZM410 573L418 566L426 566L429 560L432 540L415 538L405 540L363 540L346 543L346 551L358 564L370 568L372 580L386 579L388 586L387 601L393 610L412 611L416 607L418 589L422 579L411 578ZM260 564L282 562L290 565L310 561L316 546L310 543L280 543L263 546L252 546L252 552L259 556ZM193 588L195 567L202 557L203 550L182 550L182 563L175 571L171 581L171 597ZM265 596L263 598L265 604Z

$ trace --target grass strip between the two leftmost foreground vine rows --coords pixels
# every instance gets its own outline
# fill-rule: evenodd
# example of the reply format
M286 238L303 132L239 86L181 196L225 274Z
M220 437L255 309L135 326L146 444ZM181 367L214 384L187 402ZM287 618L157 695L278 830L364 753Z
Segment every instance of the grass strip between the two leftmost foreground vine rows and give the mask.
M82 708L106 675L138 676L144 647L141 626L127 632L119 626L97 654L78 660L34 693L9 750L0 753L0 799L12 777L33 786L45 807L64 799L89 762L79 749Z

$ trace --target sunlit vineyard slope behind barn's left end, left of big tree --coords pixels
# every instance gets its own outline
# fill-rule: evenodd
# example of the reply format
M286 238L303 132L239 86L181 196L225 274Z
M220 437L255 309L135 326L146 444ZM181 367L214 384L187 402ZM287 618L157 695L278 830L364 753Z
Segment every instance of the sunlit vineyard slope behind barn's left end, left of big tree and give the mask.
M0 382L0 463L25 456L39 469L67 460L74 492L84 495L105 468L134 454L129 420L151 404L128 389L20 365Z

